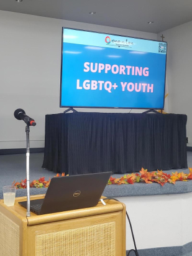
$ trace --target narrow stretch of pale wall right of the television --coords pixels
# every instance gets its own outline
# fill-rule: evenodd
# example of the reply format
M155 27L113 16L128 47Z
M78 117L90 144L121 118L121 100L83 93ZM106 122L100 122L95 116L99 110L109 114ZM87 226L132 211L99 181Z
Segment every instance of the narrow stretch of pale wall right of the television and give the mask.
M192 22L173 27L158 34L165 36L168 42L167 55L167 85L168 85L168 108L170 113L186 114L187 136L192 146Z

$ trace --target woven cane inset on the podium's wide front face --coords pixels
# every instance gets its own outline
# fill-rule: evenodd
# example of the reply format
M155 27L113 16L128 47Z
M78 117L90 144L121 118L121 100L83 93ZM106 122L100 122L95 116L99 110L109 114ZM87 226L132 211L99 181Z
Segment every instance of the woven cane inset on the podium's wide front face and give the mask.
M98 255L116 255L115 222L68 229L36 237L36 256Z

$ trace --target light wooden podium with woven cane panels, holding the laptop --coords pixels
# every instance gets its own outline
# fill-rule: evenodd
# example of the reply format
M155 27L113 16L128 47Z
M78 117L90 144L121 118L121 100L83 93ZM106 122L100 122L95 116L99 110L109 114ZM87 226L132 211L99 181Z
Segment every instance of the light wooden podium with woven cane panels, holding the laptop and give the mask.
M16 197L10 207L0 200L0 256L126 255L126 206L121 202L26 217L18 204L25 200Z

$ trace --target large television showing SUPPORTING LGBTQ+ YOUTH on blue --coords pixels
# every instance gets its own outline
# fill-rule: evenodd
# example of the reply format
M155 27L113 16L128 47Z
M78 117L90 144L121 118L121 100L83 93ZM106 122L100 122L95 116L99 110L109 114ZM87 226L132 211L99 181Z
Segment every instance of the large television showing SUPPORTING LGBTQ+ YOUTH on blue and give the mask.
M60 107L163 109L167 43L63 27Z

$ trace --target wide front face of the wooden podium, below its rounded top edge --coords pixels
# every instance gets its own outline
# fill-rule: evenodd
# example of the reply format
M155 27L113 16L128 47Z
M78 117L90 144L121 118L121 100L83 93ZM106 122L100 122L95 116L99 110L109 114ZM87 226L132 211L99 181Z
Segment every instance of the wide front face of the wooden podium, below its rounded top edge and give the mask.
M32 256L122 256L122 212L27 229Z

